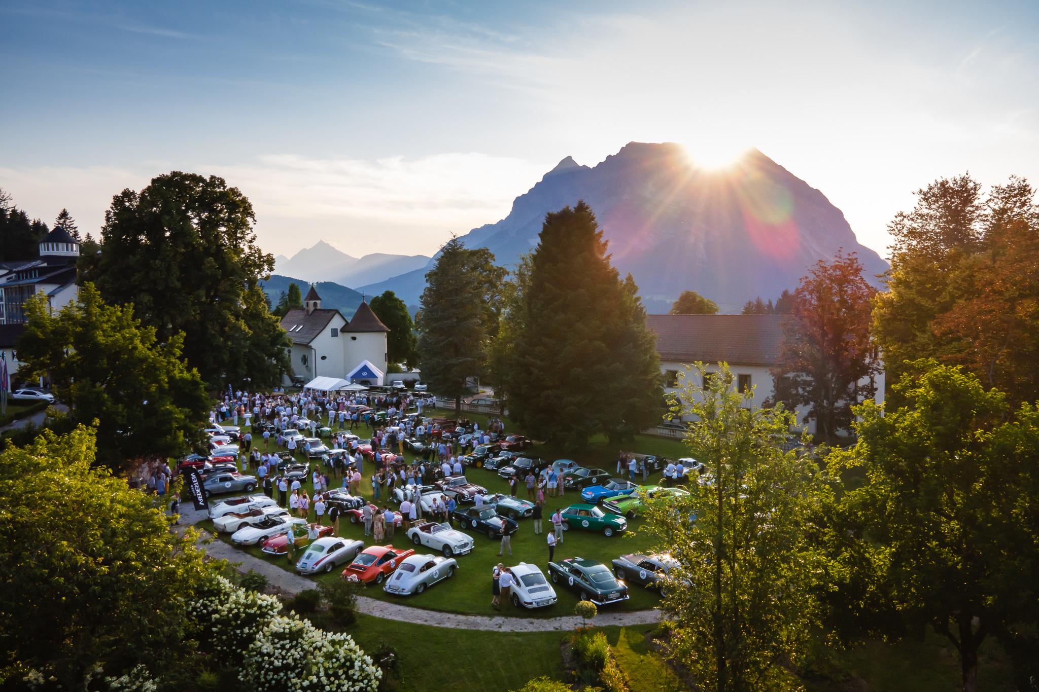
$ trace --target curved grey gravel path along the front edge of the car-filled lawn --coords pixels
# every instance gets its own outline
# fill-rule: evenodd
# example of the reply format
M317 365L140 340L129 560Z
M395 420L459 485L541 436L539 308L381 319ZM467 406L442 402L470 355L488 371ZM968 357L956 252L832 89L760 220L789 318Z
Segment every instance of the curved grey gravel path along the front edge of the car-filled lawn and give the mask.
M205 511L195 511L189 502L181 504L182 522L194 524L203 519L206 519ZM219 538L214 537L208 545L202 548L213 557L225 559L229 562L241 562L241 569L246 572L254 570L262 574L267 577L267 581L271 586L282 589L284 593L298 593L303 589L314 588L314 582L310 579L300 577L294 572L283 570L267 560L262 560L259 557L241 552ZM438 610L424 610L422 608L387 603L367 596L357 597L357 611L374 617L384 617L387 619L415 622L417 625L430 625L432 627L447 627L459 630L489 630L492 632L551 632L554 630L572 630L581 625L581 618L576 615L553 617L551 619L458 615ZM628 613L600 613L595 616L594 624L596 627L607 627L610 625L623 627L629 625L652 625L660 619L661 612L654 609Z

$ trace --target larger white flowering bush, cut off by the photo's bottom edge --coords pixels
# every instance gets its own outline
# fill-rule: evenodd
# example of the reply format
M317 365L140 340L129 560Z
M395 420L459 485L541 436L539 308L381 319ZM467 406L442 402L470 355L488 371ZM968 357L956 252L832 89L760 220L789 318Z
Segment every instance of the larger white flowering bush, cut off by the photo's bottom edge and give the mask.
M263 628L241 673L257 692L375 692L381 677L352 637L318 630L295 614Z

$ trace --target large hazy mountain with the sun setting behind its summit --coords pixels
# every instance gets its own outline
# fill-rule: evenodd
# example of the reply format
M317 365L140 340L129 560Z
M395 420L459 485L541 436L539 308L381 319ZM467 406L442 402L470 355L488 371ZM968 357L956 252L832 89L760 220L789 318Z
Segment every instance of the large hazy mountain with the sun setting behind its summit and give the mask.
M570 157L515 198L509 215L462 237L501 265L530 251L547 212L584 199L610 241L621 276L631 272L650 311L696 290L724 312L749 299L793 289L807 268L838 248L857 252L869 279L887 262L859 245L844 214L822 192L757 150L724 171L692 166L677 144L632 142L594 168ZM373 285L418 301L423 268Z

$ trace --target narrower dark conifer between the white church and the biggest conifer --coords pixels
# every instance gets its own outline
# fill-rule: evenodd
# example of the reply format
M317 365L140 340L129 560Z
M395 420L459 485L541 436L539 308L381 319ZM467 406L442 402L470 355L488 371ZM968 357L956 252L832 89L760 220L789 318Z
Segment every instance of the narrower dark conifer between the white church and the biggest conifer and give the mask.
M486 294L471 253L457 238L448 241L422 292L422 378L430 391L455 399L456 415L471 393L467 379L479 377L487 357Z

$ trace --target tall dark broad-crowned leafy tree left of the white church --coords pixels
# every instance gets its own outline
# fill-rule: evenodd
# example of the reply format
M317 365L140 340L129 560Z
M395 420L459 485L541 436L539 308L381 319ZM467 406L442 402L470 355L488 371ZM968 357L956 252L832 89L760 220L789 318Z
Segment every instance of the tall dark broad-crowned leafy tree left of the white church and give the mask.
M133 304L159 342L184 333L184 355L211 388L260 387L289 367L289 338L260 280L274 258L256 246L249 200L223 178L174 171L112 198L102 252L84 266L112 305Z

